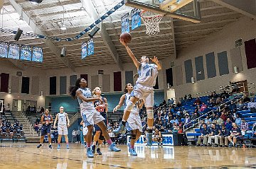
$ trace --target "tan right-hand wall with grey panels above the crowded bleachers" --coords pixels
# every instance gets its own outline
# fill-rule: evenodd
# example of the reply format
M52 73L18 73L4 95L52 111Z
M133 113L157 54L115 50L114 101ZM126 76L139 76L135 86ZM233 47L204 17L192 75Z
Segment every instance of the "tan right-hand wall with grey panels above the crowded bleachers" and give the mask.
M171 62L175 62L173 88L176 98L181 98L188 93L196 96L196 93L218 90L219 86L228 85L229 81L247 80L249 83L256 83L256 69L248 69L245 54L245 41L255 39L255 28L256 21L246 17L240 18L239 21L226 25L223 30L211 33L208 37L198 40L195 44L178 52L176 60L164 59L162 62L165 68L168 68ZM235 48L235 40L240 38L242 38L242 46ZM251 52L253 49L247 49L247 51L250 52L250 57L254 56L254 60L256 60L256 52L253 55ZM201 80L202 77L198 78L198 70L196 70L195 60L200 56L203 56L203 71L201 73L205 80ZM191 83L187 77L191 74L191 70L186 74L188 59L192 60L192 75L196 78L196 83ZM238 66L238 74L234 73L234 66ZM181 69L182 74L178 71Z

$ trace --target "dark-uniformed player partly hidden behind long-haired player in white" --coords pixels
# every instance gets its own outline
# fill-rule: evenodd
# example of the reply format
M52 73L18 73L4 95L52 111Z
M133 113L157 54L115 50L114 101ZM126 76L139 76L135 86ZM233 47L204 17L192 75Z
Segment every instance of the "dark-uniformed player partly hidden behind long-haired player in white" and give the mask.
M102 98L101 93L102 93L102 91L100 90L100 87L96 87L92 91L92 94L95 95L97 98ZM107 99L102 98L102 102L103 103L100 103L100 100L96 100L94 102L94 106L95 106L95 109L98 112L100 112L100 115L102 115L102 117L105 118L104 122L105 122L105 125L107 126ZM95 124L94 127L95 127L95 136L93 137L92 153L95 153L96 144L98 142L97 153L99 155L102 155L102 153L100 152L100 146L102 145L104 136L102 135L102 131L97 124Z

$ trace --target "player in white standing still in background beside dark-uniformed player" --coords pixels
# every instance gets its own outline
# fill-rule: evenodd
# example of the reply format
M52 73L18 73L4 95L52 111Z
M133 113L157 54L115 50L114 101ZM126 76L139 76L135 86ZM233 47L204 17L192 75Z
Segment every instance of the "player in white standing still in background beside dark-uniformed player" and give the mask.
M70 122L68 119L68 114L64 112L64 107L60 106L60 112L56 115L54 120L53 128L56 128L56 123L58 121L58 146L60 148L61 137L65 136L65 141L67 144L67 148L70 148L68 145L68 127L70 126Z

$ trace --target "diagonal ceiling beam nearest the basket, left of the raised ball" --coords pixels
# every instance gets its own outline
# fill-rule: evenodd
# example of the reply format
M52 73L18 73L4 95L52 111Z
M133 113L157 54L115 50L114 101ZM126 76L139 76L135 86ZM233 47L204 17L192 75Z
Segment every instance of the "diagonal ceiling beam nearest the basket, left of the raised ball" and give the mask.
M82 0L82 7L85 8L85 11L87 11L87 13L90 15L91 18L93 18L93 20L96 21L100 17L91 0ZM103 23L100 23L100 36L102 37L102 40L107 48L110 50L110 54L113 57L114 62L119 66L119 69L122 70L122 60L119 58L117 49L114 47L110 35L107 33L107 30Z

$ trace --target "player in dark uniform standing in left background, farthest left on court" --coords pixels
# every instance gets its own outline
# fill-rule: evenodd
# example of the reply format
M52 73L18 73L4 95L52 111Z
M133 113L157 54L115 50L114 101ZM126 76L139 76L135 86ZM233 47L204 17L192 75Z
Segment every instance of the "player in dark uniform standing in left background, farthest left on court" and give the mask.
M51 137L50 137L50 128L51 124L53 123L53 117L49 115L49 110L46 109L46 112L41 117L41 124L43 125L41 128L41 136L40 136L40 144L37 146L37 148L40 148L43 146L43 138L47 134L48 135L48 141L49 141L49 148L51 149Z

